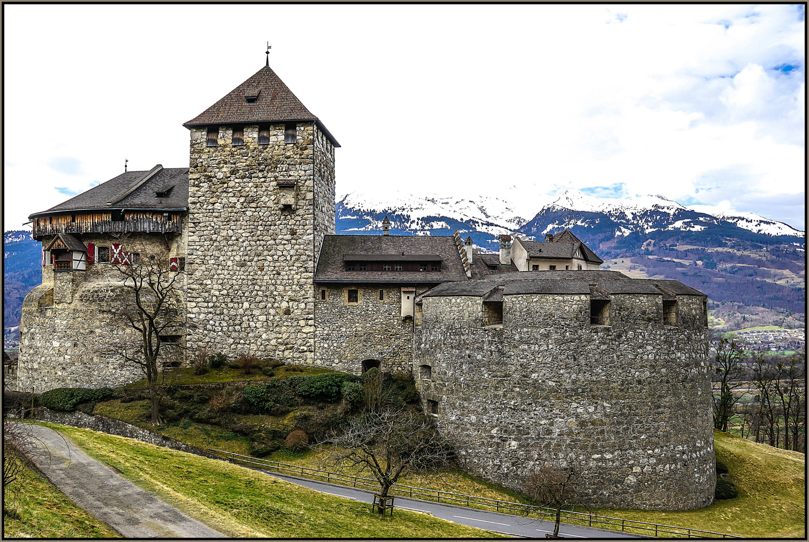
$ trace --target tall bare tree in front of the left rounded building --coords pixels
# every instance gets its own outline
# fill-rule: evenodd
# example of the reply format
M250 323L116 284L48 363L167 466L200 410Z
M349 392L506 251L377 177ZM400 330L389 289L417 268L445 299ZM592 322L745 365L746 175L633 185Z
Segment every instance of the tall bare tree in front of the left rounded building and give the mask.
M105 311L117 324L133 330L129 341L112 345L110 352L141 367L149 385L151 423L159 426L160 388L163 365L173 362L182 345L165 337L181 334L184 311L180 310L180 273L172 271L168 254L141 255L129 265L116 265L121 278L121 296L114 311Z

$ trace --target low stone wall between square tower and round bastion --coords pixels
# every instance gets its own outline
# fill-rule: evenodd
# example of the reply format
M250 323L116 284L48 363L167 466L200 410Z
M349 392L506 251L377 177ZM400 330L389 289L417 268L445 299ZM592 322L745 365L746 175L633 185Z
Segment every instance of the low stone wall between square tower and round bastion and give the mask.
M320 300L320 290L327 299ZM348 302L358 290L358 303ZM383 290L383 300L379 299ZM418 292L426 290L420 287ZM413 362L413 320L401 315L401 286L316 286L316 364L359 375L362 362L379 360L382 371L408 372Z

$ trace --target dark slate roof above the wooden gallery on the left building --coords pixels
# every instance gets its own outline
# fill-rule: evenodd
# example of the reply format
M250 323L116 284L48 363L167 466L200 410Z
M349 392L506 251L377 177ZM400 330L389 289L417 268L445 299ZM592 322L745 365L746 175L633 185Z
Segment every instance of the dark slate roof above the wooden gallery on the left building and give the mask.
M153 168L154 169L154 168ZM150 170L151 171L151 170ZM113 205L107 205L108 201L115 201L130 188L138 183L150 173L150 171L127 171L121 175L94 186L63 201L59 205L54 205L49 210L34 213L29 219L37 218L47 214L55 214L72 210L111 210L111 209L188 209L188 167L161 168L151 176L146 182L138 186L121 201L116 201ZM155 192L173 186L171 193L167 197L157 198Z

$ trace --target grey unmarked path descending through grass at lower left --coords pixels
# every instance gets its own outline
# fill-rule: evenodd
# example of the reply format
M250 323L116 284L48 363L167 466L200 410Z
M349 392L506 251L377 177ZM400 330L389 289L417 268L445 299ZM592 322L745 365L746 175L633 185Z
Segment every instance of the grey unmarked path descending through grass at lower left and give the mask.
M32 458L70 500L127 538L227 538L159 501L106 465L85 454L70 439L48 427L30 426L39 446L50 454Z

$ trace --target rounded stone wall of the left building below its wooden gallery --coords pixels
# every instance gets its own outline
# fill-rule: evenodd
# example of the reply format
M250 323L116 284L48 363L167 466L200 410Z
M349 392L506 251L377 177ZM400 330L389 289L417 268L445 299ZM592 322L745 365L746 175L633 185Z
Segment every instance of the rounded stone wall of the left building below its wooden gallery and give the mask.
M51 239L44 239L47 246ZM83 243L108 246L123 243L125 250L142 257L184 256L180 236L133 233L120 236L82 236ZM167 262L166 262L167 263ZM129 341L132 330L112 321L105 310L121 306L121 275L106 263L87 265L85 271L54 272L42 269L42 284L23 301L17 389L45 392L55 387L116 387L142 378L138 366L129 365L110 350ZM184 273L177 282L180 295Z

